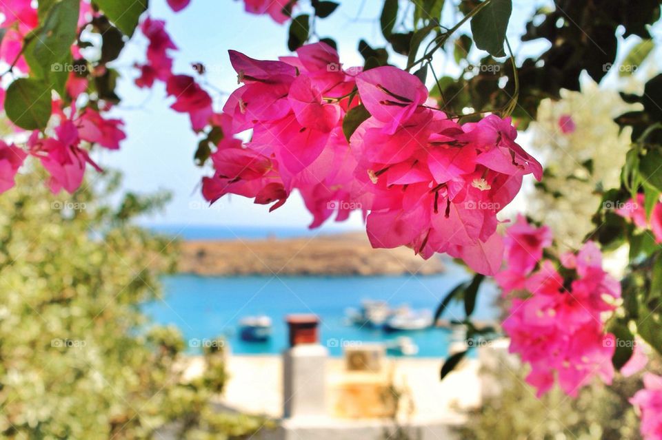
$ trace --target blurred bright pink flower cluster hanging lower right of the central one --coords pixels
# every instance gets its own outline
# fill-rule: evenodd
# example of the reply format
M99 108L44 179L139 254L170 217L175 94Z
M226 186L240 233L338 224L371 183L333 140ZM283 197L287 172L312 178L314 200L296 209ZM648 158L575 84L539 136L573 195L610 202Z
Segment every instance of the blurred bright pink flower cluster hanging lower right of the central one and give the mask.
M543 260L552 237L522 217L507 232L508 267L496 275L503 291L522 291L512 300L503 322L510 352L531 364L526 380L541 396L554 385L575 397L579 388L599 376L614 376L614 335L605 333L603 312L614 310L621 286L602 269L602 255L593 242L578 253L565 253L561 267ZM563 275L561 275L563 273Z

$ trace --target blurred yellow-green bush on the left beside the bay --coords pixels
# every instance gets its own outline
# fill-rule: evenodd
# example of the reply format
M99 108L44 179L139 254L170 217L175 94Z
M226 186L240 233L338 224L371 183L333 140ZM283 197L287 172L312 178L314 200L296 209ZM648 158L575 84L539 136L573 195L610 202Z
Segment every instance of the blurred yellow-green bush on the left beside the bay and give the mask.
M168 196L118 203L112 174L53 196L42 178L19 176L0 198L1 436L239 439L261 427L214 409L223 350L208 348L203 375L187 378L179 331L150 327L141 312L159 298L177 244L128 220Z

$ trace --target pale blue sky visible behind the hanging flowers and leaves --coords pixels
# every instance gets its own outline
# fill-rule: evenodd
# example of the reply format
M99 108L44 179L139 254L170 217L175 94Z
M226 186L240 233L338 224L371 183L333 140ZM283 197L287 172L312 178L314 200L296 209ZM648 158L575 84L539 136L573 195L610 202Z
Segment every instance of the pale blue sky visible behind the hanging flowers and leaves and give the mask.
M303 10L310 7L301 1ZM360 17L357 17L361 1L341 1L341 7L328 19L318 20L317 29L321 36L331 36L339 43L341 61L345 66L361 65L357 52L359 39L366 39L375 46L383 45L379 30L379 14L382 0L365 0ZM407 2L401 2L404 5ZM523 32L525 19L530 17L536 6L547 1L515 0L514 13L509 27L511 41L516 41ZM454 22L450 8L446 8L445 21ZM287 25L278 25L268 16L256 16L243 12L243 2L234 0L192 0L190 6L172 13L165 0L150 2L150 14L165 19L167 30L179 46L174 55L174 72L192 74L193 62L203 63L208 70L205 89L214 96L217 109L228 93L237 88L237 75L228 60L228 49L239 50L257 59L277 59L288 54L286 48ZM210 174L209 169L200 169L193 163L192 156L198 138L190 130L188 115L179 114L169 108L171 101L165 97L163 85L153 90L139 90L132 83L135 61L144 57L146 41L137 35L128 44L128 50L117 62L123 78L119 94L123 102L116 110L126 121L128 138L121 151L104 151L99 162L106 167L121 169L125 175L125 187L132 191L150 192L168 189L173 200L165 213L148 219L158 224L190 225L243 225L261 227L305 227L311 216L303 207L298 194L290 197L285 206L268 213L262 205L239 197L225 198L212 207L200 196L201 176ZM518 54L537 52L545 43L514 48ZM481 53L474 50L474 56ZM392 63L403 65L405 58L395 55ZM443 54L435 56L435 70L440 75L457 74L457 66L445 59ZM525 146L525 145L524 145ZM525 146L526 147L526 146ZM358 229L359 215L343 224L331 227ZM328 227L327 227L328 228Z

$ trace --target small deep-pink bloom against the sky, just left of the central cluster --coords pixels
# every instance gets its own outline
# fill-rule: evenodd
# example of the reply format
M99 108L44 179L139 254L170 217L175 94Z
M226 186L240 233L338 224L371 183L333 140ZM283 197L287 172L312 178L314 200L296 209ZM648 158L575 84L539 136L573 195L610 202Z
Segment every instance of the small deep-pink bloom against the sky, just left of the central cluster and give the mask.
M208 125L214 114L212 98L195 82L192 76L170 76L165 85L165 91L175 98L174 104L170 107L176 112L188 113L195 131Z

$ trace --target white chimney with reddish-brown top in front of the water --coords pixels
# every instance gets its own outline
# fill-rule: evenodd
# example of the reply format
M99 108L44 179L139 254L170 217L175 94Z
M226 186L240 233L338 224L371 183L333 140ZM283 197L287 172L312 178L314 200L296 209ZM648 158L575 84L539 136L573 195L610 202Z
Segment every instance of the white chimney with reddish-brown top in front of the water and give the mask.
M283 352L283 417L325 415L325 364L316 315L288 315L290 348Z

